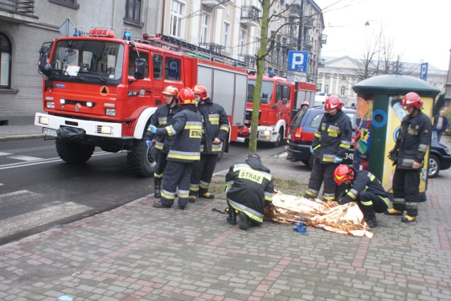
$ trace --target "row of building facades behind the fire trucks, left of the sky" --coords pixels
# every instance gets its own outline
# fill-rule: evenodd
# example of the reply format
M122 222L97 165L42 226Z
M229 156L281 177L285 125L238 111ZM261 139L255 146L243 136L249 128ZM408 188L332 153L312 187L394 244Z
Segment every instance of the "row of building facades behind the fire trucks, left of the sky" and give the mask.
M305 50L303 81L315 82L326 42L321 8L313 0L278 0L270 15L277 18L269 25L265 72L288 76L288 51ZM32 124L42 111L39 48L75 29L113 27L121 37L128 28L134 39L163 34L252 69L260 21L258 0L0 0L0 125Z

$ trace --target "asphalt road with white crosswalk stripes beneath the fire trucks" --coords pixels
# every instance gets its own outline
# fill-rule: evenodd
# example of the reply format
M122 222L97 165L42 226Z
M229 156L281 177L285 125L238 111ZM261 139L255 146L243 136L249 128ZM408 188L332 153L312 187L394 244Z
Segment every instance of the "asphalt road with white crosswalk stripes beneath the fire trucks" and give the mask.
M232 143L216 165L228 169L247 155L245 143ZM284 151L259 144L262 156ZM68 165L54 141L0 143L0 244L111 210L153 193L153 178L135 177L126 153L96 149L84 165Z

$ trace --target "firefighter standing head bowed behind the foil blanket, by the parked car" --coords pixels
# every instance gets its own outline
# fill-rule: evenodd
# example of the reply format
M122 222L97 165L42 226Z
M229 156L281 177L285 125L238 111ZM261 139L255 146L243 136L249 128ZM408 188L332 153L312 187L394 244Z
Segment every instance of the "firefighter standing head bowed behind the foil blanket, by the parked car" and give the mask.
M335 200L333 171L350 149L352 135L350 117L342 112L342 107L343 103L337 96L329 96L324 103L326 113L310 147L310 152L314 155L314 165L304 198L317 198L324 181L323 200Z

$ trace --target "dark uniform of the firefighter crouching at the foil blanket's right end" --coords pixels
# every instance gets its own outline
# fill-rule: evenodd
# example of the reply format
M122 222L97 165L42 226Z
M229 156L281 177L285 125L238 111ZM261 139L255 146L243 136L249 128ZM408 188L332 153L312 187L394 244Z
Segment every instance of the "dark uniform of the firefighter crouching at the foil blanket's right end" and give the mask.
M345 195L338 199L340 205L352 201L359 205L366 217L371 216L373 212L385 212L390 204L390 198L381 182L366 170L355 172L352 184L346 189Z

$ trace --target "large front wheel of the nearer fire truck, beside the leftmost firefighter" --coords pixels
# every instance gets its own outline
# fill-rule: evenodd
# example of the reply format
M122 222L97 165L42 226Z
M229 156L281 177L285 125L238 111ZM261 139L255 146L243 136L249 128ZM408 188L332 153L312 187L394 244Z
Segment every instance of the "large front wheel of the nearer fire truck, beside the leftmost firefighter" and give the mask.
M150 150L144 140L135 139L132 150L127 154L128 166L138 177L154 175L156 162L152 159Z

